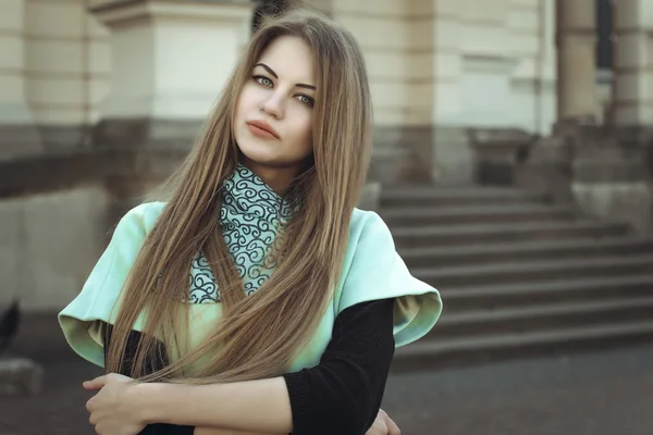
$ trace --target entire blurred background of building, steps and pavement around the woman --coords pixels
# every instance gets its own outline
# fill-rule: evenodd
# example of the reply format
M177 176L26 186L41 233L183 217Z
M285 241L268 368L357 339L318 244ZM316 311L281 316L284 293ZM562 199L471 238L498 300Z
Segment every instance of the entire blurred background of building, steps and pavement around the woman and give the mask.
M99 369L56 314L278 3L0 0L1 435L94 433L81 383ZM390 417L404 434L651 434L653 2L309 3L366 55L360 207L444 300L396 351Z

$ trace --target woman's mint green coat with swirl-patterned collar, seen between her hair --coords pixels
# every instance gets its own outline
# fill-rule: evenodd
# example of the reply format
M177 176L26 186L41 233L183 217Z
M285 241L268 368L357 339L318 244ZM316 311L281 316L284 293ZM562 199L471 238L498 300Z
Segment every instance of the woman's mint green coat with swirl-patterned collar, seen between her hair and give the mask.
M222 231L245 290L250 294L273 272L273 264L271 268L263 265L262 259L273 240L275 227L289 217L289 209L283 198L244 166L238 166L225 183L223 195ZM59 313L59 323L69 345L94 364L104 364L100 326L102 322L114 323L118 295L164 207L162 202L144 203L122 217L82 291ZM199 344L221 318L219 289L201 253L193 260L190 270L189 348ZM294 360L291 372L319 363L338 313L356 303L384 298L395 298L394 339L397 347L424 336L442 311L440 294L410 275L381 217L374 212L355 209L333 300L312 338ZM140 315L133 328L143 331L143 327L144 316Z

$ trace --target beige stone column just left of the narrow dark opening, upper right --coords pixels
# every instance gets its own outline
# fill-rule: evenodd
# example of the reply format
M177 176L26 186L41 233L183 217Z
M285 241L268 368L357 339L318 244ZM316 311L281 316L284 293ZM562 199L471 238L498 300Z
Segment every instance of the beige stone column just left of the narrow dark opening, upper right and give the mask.
M556 8L557 121L592 123L599 111L595 0L557 0Z

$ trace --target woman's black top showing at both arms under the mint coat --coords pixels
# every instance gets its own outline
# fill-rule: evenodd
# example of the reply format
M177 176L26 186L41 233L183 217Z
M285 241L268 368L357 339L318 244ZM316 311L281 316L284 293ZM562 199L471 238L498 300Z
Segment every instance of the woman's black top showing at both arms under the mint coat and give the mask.
M335 319L320 363L283 375L293 412L293 435L364 435L372 425L394 355L393 302L383 299L345 309ZM104 349L109 348L111 332L108 325ZM139 335L133 331L128 337L123 374L131 372ZM150 361L151 370L165 364ZM140 434L193 435L194 430L157 423Z

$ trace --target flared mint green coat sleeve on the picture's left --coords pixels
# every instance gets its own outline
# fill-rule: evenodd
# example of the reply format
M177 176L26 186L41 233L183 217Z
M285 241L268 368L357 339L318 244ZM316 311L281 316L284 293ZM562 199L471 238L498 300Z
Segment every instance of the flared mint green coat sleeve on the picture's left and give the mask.
M71 348L87 361L104 365L99 333L101 322L113 324L119 295L147 229L162 210L161 203L145 203L130 210L118 223L109 246L94 266L82 291L58 315ZM140 327L143 316L134 325Z

